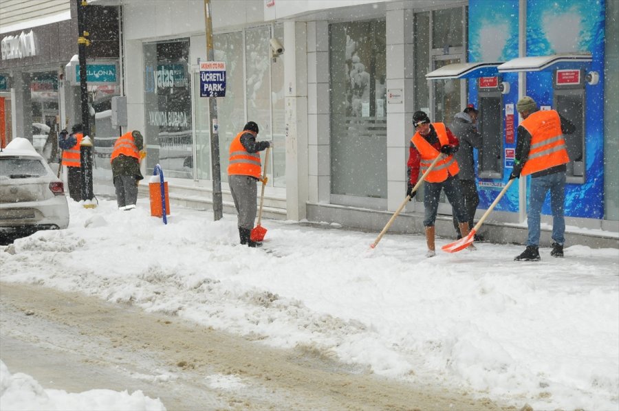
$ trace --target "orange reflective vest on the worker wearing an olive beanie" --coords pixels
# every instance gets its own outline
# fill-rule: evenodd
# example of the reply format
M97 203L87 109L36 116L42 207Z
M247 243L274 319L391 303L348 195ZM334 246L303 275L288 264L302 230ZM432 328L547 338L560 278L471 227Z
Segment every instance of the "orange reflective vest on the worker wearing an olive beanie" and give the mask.
M531 135L531 149L521 175L530 175L569 162L561 131L561 118L556 111L536 111L520 125Z

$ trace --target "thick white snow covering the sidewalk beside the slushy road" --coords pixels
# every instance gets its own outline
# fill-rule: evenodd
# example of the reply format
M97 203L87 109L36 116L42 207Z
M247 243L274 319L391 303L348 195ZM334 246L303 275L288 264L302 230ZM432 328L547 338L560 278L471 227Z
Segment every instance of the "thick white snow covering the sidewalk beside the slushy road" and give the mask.
M420 235L263 220L263 249L237 245L236 216L146 199L130 212L69 201L67 230L0 247L0 280L303 348L398 381L534 409L619 410L619 249L477 244L424 258ZM451 239L437 239L437 248ZM272 252L266 252L272 250ZM3 358L0 358L3 359ZM20 370L10 370L17 373ZM102 387L105 388L105 387Z

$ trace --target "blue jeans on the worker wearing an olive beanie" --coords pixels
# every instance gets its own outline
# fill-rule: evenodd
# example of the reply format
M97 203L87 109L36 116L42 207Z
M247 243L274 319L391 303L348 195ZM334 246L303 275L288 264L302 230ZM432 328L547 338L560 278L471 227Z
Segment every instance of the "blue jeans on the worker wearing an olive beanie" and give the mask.
M565 171L531 178L531 193L529 195L529 210L527 218L529 238L527 245L539 246L541 231L541 208L550 190L550 208L552 209L552 239L555 243L565 243L565 218L563 203L565 203Z

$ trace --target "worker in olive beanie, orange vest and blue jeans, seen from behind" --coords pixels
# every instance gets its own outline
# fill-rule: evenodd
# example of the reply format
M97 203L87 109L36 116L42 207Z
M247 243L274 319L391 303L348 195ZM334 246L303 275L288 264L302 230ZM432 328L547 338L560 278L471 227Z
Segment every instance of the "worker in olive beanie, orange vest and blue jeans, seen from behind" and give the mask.
M510 180L531 175L529 209L527 210L527 247L514 260L539 261L541 208L550 190L552 209L553 257L563 257L565 243L565 171L569 157L563 134L572 134L576 127L555 110L539 111L535 100L524 96L516 109L523 118L518 126L514 169Z

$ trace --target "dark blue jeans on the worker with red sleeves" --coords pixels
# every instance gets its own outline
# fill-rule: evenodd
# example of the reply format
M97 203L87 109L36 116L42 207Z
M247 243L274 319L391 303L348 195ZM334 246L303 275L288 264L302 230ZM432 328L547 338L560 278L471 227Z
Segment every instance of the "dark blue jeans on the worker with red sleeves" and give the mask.
M441 190L445 190L447 200L453 208L453 215L459 223L468 221L468 214L464 207L464 197L460 189L458 177L449 176L440 183L424 183L424 227L433 227L436 221L438 202L441 197ZM470 228L470 227L469 227Z

